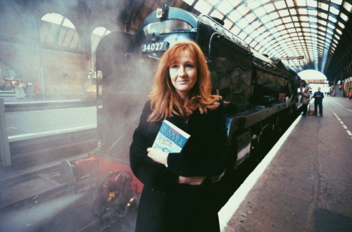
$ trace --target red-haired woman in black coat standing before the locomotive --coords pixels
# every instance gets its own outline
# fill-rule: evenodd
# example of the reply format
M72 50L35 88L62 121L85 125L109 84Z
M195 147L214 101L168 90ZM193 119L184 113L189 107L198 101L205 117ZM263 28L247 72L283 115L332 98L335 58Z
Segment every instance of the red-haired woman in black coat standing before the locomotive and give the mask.
M196 43L164 53L130 147L132 171L144 183L136 231L220 231L211 180L225 171L227 128L221 97L210 90ZM151 148L163 120L191 135L181 153Z

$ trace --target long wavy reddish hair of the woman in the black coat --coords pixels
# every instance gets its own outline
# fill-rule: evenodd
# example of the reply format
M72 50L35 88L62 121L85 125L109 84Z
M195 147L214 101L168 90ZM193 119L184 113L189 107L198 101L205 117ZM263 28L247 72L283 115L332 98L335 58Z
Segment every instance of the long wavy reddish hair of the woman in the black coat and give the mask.
M177 94L170 78L170 66L180 61L184 51L190 51L196 63L197 79L186 99ZM201 114L208 109L218 108L221 96L211 95L211 80L206 64L206 57L194 41L177 42L163 54L153 78L153 89L149 93L151 110L149 122L165 120L172 115L178 115L187 121L194 110Z

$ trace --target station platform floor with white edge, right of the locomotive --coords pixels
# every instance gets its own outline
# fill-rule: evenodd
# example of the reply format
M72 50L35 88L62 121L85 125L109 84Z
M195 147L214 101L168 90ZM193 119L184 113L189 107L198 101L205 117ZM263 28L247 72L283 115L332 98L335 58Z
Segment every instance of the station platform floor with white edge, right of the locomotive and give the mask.
M234 193L222 231L352 231L352 101L323 110L299 116Z

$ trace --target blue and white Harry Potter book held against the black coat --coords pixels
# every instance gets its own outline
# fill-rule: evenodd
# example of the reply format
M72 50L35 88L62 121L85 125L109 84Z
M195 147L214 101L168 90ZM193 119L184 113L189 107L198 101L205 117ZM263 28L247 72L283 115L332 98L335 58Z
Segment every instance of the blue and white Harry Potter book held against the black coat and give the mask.
M165 153L180 153L189 137L190 135L185 131L168 120L164 120L156 135L153 147L161 148Z

